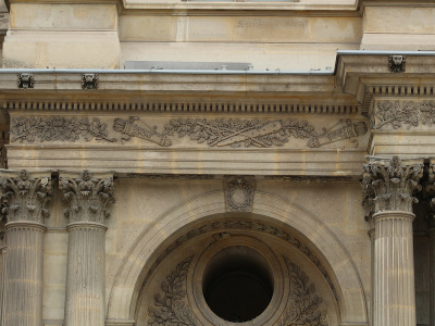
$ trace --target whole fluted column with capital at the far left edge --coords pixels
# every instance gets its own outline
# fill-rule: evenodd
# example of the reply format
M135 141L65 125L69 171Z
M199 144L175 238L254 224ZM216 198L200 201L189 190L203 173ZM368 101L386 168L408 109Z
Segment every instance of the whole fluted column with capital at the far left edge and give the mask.
M8 224L7 304L4 325L42 325L45 205L51 195L47 174L3 172L0 176Z

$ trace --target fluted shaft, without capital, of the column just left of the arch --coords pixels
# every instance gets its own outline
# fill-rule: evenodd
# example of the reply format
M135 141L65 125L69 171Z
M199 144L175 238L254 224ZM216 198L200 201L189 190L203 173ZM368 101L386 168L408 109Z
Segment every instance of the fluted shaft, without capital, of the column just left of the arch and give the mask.
M104 325L107 227L97 223L72 223L67 230L65 325Z

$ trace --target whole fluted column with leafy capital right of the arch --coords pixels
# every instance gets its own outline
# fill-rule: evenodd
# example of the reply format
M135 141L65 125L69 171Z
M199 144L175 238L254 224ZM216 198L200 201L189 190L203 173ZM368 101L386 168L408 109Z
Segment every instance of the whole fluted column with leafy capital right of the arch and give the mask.
M412 193L421 189L422 164L389 162L364 165L364 197L373 209L373 325L415 325Z

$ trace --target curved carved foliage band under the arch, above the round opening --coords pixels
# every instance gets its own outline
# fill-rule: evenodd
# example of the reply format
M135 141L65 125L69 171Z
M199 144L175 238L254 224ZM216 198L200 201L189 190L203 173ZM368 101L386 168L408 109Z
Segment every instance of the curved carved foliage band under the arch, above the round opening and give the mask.
M186 233L185 235L175 239L171 244L166 247L166 249L156 259L156 261L150 266L148 271L141 289L139 292L142 291L144 287L146 286L148 279L151 277L152 273L156 272L158 266L163 262L165 258L167 258L172 252L174 252L177 248L195 239L198 236L202 236L208 233L213 233L216 230L221 231L228 231L228 230L252 230L262 234L266 234L270 236L274 236L282 241L287 242L289 246L297 248L300 252L302 252L321 272L323 277L325 278L327 285L330 286L331 291L338 304L338 292L334 285L332 277L330 276L326 267L323 265L321 260L316 256L316 254L306 246L301 240L293 236L291 234L285 231L282 228L274 227L263 222L258 221L244 221L244 220L229 220L229 221L216 221L208 224L199 225L198 227L191 229L190 231Z

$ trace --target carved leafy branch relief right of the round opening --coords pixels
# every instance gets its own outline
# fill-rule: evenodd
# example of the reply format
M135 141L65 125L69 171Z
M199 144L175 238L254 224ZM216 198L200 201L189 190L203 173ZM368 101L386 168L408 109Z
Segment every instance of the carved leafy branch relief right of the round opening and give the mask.
M322 298L316 294L310 278L298 265L284 258L290 278L290 302L278 326L327 326L326 311L321 310Z

